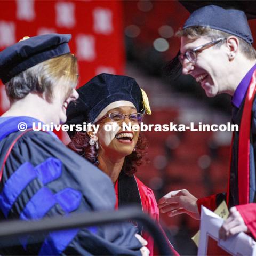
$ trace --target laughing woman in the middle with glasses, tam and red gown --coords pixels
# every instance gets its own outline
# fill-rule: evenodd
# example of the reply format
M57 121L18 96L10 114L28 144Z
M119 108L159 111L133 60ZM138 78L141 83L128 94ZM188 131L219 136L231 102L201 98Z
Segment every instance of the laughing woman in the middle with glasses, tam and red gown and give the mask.
M151 114L146 93L133 78L110 74L95 76L77 92L79 99L67 109L67 123L86 122L98 127L94 131L69 132L69 147L109 175L116 191L116 209L138 203L158 222L153 191L134 175L137 166L145 162L147 140L139 131L123 126L138 125L145 113ZM113 129L109 131L109 127ZM153 255L152 239L142 227L138 229Z

